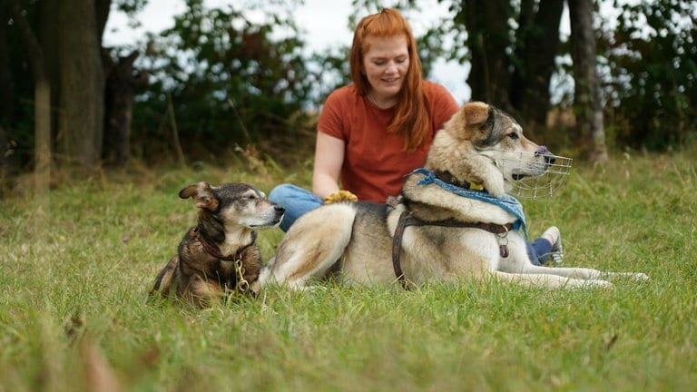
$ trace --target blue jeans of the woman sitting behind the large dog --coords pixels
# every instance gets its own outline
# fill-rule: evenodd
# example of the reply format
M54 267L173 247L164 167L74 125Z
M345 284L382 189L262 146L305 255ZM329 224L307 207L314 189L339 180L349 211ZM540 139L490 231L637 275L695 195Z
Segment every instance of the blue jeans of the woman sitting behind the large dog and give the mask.
M316 194L292 184L280 184L269 193L269 200L286 209L280 229L288 231L302 214L322 205L323 200ZM527 243L527 255L535 265L543 265L549 259L552 244L543 238Z

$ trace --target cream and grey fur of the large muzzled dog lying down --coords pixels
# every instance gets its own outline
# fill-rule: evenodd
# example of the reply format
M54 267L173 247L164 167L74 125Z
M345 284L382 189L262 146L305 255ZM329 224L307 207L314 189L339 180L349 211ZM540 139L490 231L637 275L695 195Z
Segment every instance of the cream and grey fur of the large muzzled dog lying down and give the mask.
M525 152L521 154L520 152ZM521 160L520 157L529 157ZM514 158L516 165L503 164ZM452 183L475 182L502 197L510 182L545 173L554 155L523 135L515 120L486 103L466 103L437 132L424 168L447 172ZM457 196L437 184L418 184L424 174L407 176L394 207L366 202L337 202L309 211L281 240L276 256L252 289L274 283L307 287L340 271L348 284L394 284L393 235L402 212L418 220L457 220L506 225L514 215L495 204ZM410 226L401 242L401 268L413 285L427 280L497 278L541 287L609 286L612 276L646 279L641 273L535 266L519 230L506 235L506 256L499 235L462 227Z

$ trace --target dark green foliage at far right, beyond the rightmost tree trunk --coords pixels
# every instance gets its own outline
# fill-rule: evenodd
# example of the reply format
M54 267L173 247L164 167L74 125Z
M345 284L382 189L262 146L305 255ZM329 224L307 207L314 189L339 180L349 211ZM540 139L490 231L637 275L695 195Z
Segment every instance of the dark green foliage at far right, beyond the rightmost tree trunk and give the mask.
M616 26L604 28L599 47L606 58L605 94L616 142L652 150L689 142L697 122L693 2L618 6L622 14Z

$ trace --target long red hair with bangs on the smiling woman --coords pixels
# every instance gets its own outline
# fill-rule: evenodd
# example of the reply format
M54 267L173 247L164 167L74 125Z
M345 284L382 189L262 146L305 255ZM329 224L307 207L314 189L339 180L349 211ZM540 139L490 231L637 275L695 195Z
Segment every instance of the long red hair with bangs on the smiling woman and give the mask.
M404 150L413 152L427 141L430 130L430 113L421 78L421 59L417 42L407 20L397 10L384 8L378 14L368 15L358 22L353 34L350 67L351 80L358 93L367 96L370 84L363 70L363 57L370 49L370 38L404 35L407 38L409 67L405 83L399 92L395 116L388 124L388 133L397 133L404 139Z

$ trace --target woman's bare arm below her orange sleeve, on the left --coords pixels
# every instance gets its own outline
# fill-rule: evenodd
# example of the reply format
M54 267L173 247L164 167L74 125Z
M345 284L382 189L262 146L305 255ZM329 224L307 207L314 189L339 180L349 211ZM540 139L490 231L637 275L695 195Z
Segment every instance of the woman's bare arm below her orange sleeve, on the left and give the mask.
M315 166L312 170L312 192L324 199L339 191L339 172L344 163L346 142L317 132Z

